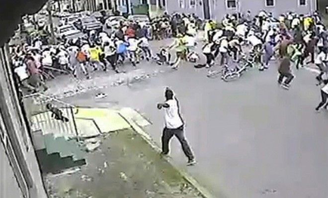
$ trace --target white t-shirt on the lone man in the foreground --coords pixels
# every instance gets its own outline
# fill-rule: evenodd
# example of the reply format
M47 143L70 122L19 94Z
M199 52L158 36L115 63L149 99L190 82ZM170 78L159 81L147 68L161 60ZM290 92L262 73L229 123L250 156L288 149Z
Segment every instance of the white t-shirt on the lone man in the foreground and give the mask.
M178 101L174 99L169 99L165 102L169 105L168 108L164 108L164 118L165 126L169 129L179 128L183 125L182 118L179 112Z

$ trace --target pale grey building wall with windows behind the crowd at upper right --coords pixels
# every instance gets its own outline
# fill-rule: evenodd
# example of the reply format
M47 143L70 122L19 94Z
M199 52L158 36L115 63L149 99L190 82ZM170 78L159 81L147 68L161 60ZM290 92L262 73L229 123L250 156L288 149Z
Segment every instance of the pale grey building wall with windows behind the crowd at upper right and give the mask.
M196 13L199 17L204 18L204 0L166 0L166 9L168 13ZM190 2L194 2L194 6L190 6ZM183 6L180 5L180 2ZM295 11L297 13L307 14L311 10L316 10L316 0L307 0L306 6L300 6L299 0L275 0L275 6L266 7L265 0L239 0L239 10L245 13L250 10L251 13L257 14L259 10L264 9L272 12L275 16ZM209 0L210 14L212 19L221 20L226 13L236 13L237 8L227 8L226 0Z

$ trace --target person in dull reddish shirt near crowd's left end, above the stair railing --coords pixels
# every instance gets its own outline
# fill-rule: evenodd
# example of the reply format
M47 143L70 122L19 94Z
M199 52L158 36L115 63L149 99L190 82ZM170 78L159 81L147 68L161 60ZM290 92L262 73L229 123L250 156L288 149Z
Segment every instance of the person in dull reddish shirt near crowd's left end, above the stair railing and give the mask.
M41 74L40 70L37 68L34 58L32 56L27 56L26 57L26 65L27 65L27 70L30 73L30 81L32 84L35 85L36 88L39 88L40 86L43 87L44 91L47 91L48 88L44 82L41 81Z

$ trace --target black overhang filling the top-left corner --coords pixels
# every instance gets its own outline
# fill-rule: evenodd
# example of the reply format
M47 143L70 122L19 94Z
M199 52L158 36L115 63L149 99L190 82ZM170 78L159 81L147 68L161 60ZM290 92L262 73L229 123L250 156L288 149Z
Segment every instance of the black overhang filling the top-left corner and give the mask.
M47 0L1 0L0 46L6 43L24 14L37 12Z

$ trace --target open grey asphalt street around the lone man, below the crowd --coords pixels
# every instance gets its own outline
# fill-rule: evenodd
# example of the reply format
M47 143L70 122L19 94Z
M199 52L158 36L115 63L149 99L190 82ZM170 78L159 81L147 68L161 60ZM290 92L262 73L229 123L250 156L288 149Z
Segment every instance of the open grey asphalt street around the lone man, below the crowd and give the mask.
M314 110L321 99L315 74L294 71L296 78L287 91L277 85L277 66L272 61L265 72L250 70L238 81L225 83L207 78L206 69L183 63L177 71L130 86L109 86L63 100L136 108L152 121L147 131L160 145L164 112L156 104L164 100L168 86L179 99L185 134L198 163L185 167L187 159L174 138L170 156L216 197L327 198L328 111ZM159 68L155 63L138 67ZM93 83L107 78L100 75ZM55 80L51 86L64 90L67 83ZM107 97L95 99L97 93Z

